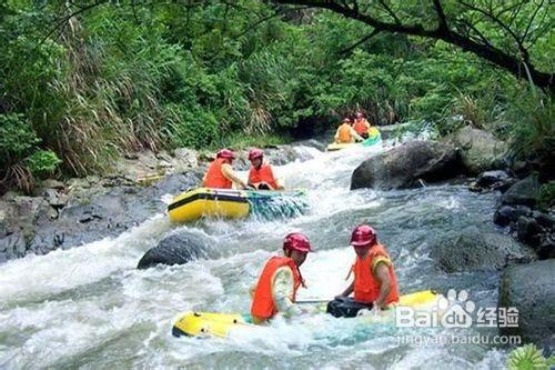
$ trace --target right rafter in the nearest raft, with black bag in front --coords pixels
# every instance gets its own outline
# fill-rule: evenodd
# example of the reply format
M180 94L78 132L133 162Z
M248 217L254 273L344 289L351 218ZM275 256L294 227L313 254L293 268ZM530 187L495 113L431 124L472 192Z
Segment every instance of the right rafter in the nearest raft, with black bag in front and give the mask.
M327 304L335 317L354 317L361 309L382 310L398 302L397 278L385 248L367 224L357 226L351 236L356 253L353 282ZM349 277L347 277L349 278ZM349 296L354 292L354 299Z

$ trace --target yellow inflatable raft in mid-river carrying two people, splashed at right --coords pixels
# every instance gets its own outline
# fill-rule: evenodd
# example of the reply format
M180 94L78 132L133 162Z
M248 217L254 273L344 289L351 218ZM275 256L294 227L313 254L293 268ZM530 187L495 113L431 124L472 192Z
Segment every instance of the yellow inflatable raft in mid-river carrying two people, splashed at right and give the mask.
M194 221L202 217L230 219L252 213L265 217L293 217L307 208L304 192L198 188L173 198L168 206L172 222Z

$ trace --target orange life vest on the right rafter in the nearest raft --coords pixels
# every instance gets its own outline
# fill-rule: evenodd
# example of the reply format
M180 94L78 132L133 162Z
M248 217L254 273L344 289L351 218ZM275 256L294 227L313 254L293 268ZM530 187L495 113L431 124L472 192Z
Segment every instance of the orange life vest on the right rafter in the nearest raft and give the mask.
M372 273L372 262L374 258L385 257L390 259L390 256L385 251L382 244L375 244L372 247L364 259L356 257L356 261L353 266L354 271L354 300L359 302L370 303L374 302L380 296L380 282ZM393 271L393 266L389 266L390 269L390 280L391 280L391 291L385 300L386 304L398 302L398 288L397 278Z

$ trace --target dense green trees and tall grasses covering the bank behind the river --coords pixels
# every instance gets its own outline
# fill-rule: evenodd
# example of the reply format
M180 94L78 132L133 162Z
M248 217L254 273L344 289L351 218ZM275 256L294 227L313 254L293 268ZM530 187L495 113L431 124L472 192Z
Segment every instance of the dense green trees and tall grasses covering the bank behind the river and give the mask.
M420 2L385 3L403 20L435 22ZM260 0L81 7L0 6L0 189L103 171L143 148L279 143L356 109L377 124L414 120L440 134L470 123L512 140L519 156L553 154L552 92L448 40L369 37L372 28L341 14ZM448 2L447 17L475 17ZM525 46L544 71L555 49L549 7L511 13L515 29L533 29ZM478 20L511 52L506 34Z

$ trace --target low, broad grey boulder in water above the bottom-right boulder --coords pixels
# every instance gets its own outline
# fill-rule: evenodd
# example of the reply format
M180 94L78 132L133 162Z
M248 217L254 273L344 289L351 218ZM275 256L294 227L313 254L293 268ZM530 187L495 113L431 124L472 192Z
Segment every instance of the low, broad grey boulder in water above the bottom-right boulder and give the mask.
M536 259L532 248L509 236L474 229L436 246L432 256L447 272L501 270L511 263L527 263Z

